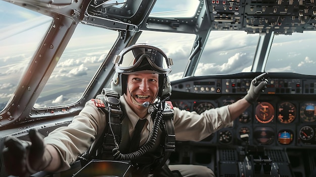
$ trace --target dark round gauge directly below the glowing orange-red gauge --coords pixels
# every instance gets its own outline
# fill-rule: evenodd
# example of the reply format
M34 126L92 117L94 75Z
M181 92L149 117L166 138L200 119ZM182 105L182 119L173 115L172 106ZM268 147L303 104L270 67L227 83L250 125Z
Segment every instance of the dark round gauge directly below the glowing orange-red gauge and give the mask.
M271 127L256 128L253 131L253 137L260 145L270 145L275 138L274 130Z

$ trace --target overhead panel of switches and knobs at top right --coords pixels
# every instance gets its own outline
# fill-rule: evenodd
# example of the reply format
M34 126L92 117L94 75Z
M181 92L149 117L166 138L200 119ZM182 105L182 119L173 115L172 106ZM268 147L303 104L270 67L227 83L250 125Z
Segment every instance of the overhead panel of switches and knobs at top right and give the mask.
M315 30L314 0L207 0L207 6L214 30L275 34Z

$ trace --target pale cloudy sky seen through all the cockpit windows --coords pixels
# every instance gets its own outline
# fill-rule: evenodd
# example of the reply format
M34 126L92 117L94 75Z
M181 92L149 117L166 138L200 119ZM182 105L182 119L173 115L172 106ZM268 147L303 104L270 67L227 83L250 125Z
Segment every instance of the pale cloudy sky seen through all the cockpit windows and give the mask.
M185 1L192 3L192 1ZM166 9L165 5L169 4ZM194 7L190 5L188 7ZM17 87L21 75L32 58L42 34L50 25L50 18L37 17L36 13L26 13L18 10L19 7L9 6L0 1L0 109L1 104L7 102ZM155 15L159 12L181 12L177 1L157 1ZM189 11L186 11L189 12ZM189 12L189 14L191 14ZM171 14L171 13L167 13ZM188 15L189 16L189 15ZM116 32L104 32L104 29L93 28L87 35L90 27L80 25L76 29L76 36L69 42L58 63L56 70L50 76L38 101L38 106L72 103L81 95L73 93L72 87L82 93L94 75L98 66L106 56L116 40ZM213 31L206 44L202 59L198 64L195 75L227 74L249 72L252 65L258 35L236 33L222 33ZM309 34L315 36L315 34ZM316 36L315 36L316 37ZM171 80L180 79L186 68L188 57L193 46L195 36L179 33L143 32L137 43L146 42L163 49L173 58L174 66L169 75ZM298 72L314 74L316 58L314 50L307 46L314 45L314 38L302 40L301 34L292 36L275 36L274 44L267 63L268 72ZM82 43L85 48L80 48ZM294 48L293 48L294 47ZM289 58L291 60L289 60ZM60 83L56 85L54 83ZM72 87L70 87L70 85ZM62 89L61 94L58 90Z

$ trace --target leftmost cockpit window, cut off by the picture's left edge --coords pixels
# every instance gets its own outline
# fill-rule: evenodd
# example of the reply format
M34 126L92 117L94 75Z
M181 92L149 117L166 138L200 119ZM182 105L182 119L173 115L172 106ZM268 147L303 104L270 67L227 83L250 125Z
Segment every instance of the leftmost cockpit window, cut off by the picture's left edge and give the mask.
M0 111L5 108L52 18L0 1Z

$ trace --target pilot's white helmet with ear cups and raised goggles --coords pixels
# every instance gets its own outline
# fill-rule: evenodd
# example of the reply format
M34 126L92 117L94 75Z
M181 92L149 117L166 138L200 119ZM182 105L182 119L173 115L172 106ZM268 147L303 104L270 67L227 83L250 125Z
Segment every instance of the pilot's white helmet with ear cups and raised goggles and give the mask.
M115 55L113 63L116 73L111 87L120 95L126 92L126 75L133 73L159 74L158 97L165 98L170 95L171 84L167 74L171 72L173 61L160 48L144 43L134 44Z

